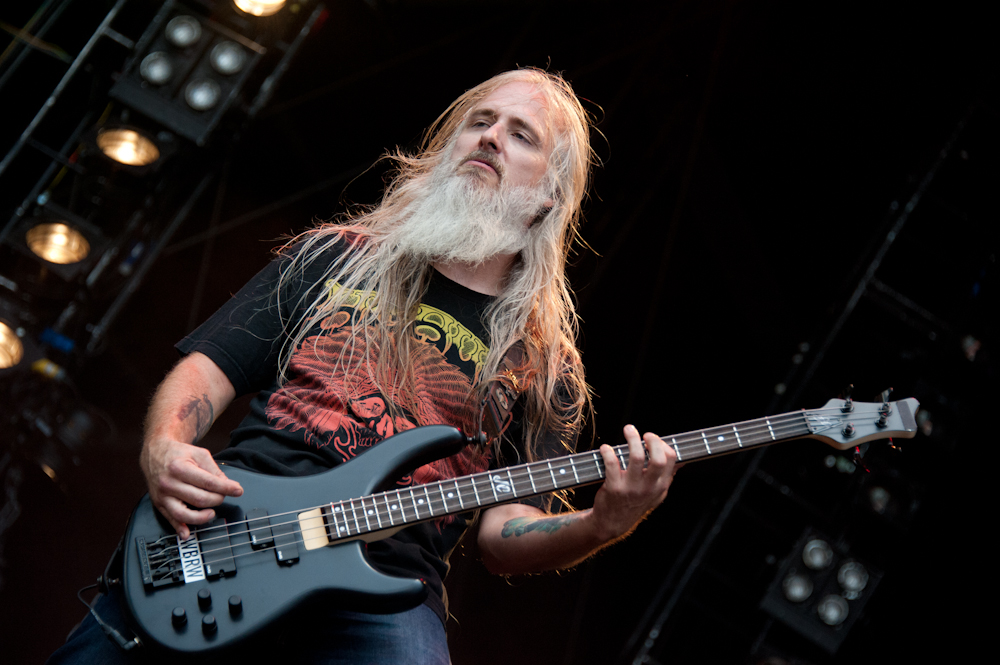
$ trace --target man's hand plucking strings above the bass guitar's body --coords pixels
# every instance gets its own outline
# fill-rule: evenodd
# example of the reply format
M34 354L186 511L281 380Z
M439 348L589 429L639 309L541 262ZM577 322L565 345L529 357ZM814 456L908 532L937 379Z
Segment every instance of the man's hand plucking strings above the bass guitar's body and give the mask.
M191 535L189 524L215 518L212 506L227 496L243 494L240 484L227 478L211 453L199 446L169 439L147 441L141 464L153 505L181 540Z

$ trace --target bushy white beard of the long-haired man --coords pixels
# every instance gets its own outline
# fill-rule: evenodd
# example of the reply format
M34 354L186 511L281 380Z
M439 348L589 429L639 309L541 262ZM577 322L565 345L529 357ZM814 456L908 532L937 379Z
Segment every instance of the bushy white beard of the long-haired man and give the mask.
M431 176L427 191L389 241L404 253L429 261L480 264L498 254L516 254L528 244L528 226L542 211L544 184L499 188L475 173L447 166ZM438 175L443 173L442 175Z

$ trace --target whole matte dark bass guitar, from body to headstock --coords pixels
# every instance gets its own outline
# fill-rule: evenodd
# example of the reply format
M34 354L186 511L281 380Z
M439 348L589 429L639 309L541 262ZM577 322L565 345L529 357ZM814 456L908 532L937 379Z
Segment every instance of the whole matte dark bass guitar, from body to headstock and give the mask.
M814 438L846 450L874 439L916 434L917 400L883 404L831 400L797 411L665 436L690 462L789 439ZM578 453L429 485L378 492L467 443L458 430L422 427L386 439L347 464L304 478L233 467L244 489L212 523L180 540L143 498L124 539L123 588L144 644L180 654L223 650L319 595L346 609L392 612L419 605L421 580L385 575L363 542L453 513L600 482L603 458ZM622 466L627 445L616 449Z

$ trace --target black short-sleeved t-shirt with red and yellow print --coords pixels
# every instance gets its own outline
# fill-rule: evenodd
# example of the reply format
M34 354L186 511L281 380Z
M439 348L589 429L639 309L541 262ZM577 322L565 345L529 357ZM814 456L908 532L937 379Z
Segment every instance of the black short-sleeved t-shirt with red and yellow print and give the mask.
M330 259L334 257L331 253ZM287 337L284 323L298 321L301 308L322 289L339 288L321 283L329 261L320 259L304 274L295 273L300 278L277 294L280 269L288 260L272 261L177 345L182 353L198 351L211 358L237 396L259 391L218 460L263 473L303 476L348 462L384 438L417 425L448 424L467 430L475 416L469 410L471 388L480 379L489 351L482 315L490 296L439 273L433 275L412 327L419 342L411 345L418 413L394 415L364 370L349 373L349 380L343 372L332 371L345 343L348 362L355 357L351 354L365 350L360 346L364 336L356 335L354 326L357 310L369 303L356 297L349 301L352 307L311 323L304 342L292 354L287 381L279 384L279 356ZM512 440L521 440L519 429L508 431ZM492 465L489 453L466 448L419 467L397 486L469 475ZM473 514L466 513L408 527L369 543L369 559L385 573L426 580L431 590L427 603L445 621L442 580L448 557L472 519Z

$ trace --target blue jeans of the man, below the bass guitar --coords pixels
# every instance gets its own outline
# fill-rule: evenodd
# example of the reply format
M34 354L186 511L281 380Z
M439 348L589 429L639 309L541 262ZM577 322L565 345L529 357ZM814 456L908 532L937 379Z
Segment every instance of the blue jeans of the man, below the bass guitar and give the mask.
M118 599L101 596L94 609L119 633L132 637ZM213 656L212 663L273 662L302 665L449 665L448 640L434 610L426 605L398 614L341 610L312 612L292 628L256 641L245 653ZM124 652L89 613L48 665L146 665L160 662L145 648ZM190 663L186 657L172 662Z

